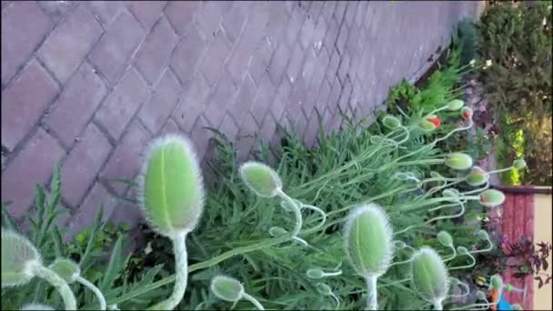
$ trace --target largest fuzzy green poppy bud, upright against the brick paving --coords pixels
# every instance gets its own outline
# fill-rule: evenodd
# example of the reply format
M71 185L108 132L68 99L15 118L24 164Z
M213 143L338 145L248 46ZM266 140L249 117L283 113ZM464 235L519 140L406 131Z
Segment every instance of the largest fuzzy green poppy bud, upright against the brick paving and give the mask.
M140 184L143 214L157 233L172 238L194 230L204 209L204 185L186 137L166 135L149 145Z

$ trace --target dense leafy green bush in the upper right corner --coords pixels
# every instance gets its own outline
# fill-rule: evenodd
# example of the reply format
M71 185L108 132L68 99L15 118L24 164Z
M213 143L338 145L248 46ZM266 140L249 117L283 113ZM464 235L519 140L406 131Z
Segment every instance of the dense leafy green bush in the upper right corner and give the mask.
M553 107L551 3L498 2L478 25L481 57L491 65L479 80L498 114L506 162L517 142L528 160L522 183L551 185L551 111ZM518 137L518 135L522 135Z

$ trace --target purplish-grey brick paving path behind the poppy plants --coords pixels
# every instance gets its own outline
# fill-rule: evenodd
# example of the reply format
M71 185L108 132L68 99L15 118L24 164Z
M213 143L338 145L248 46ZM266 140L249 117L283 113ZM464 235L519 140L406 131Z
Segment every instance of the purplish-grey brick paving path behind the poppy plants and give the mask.
M204 157L215 127L245 159L240 137L275 142L290 120L313 144L315 108L327 130L338 106L369 115L477 6L2 1L2 201L22 216L61 160L64 225L88 224L100 203L128 218L127 186L106 178L135 178L152 137L189 135Z

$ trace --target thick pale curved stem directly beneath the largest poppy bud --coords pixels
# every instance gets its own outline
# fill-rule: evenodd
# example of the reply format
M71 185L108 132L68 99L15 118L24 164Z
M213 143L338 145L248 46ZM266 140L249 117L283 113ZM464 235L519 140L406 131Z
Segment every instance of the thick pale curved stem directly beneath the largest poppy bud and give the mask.
M173 310L183 299L188 282L188 254L186 253L186 233L173 238L175 252L176 280L173 293L166 300L152 306L150 310Z

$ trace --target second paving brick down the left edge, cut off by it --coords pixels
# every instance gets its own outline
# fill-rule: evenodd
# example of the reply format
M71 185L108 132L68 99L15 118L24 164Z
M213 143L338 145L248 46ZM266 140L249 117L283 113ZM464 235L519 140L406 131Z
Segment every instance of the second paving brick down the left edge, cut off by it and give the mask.
M57 93L57 85L41 65L35 60L26 65L15 82L2 91L2 145L13 150Z

